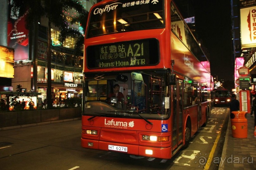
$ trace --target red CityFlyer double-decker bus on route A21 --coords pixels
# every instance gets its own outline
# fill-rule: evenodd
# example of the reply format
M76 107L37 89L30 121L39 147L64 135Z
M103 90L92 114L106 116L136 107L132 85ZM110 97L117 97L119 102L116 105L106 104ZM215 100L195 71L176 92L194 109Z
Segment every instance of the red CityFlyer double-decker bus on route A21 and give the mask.
M170 159L207 123L210 64L171 0L92 6L83 74L84 148Z

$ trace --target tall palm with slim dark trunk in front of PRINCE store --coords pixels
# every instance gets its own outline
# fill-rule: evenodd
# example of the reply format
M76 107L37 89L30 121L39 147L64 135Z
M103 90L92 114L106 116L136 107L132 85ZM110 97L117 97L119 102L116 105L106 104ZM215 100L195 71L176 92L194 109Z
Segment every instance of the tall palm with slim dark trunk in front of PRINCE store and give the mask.
M78 0L12 0L12 12L20 17L27 12L26 27L29 28L40 18L48 19L47 46L47 106L52 108L51 94L51 25L58 28L67 27L65 11L75 9L79 14L86 15L86 10Z

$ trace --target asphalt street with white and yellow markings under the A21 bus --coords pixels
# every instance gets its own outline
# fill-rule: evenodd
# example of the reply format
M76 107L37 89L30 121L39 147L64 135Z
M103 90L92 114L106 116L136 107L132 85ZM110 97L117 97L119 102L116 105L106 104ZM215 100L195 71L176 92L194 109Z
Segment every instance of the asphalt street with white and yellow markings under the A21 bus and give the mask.
M218 169L229 118L226 107L211 117L187 149L172 159L138 157L81 147L81 120L0 131L0 165L10 169Z

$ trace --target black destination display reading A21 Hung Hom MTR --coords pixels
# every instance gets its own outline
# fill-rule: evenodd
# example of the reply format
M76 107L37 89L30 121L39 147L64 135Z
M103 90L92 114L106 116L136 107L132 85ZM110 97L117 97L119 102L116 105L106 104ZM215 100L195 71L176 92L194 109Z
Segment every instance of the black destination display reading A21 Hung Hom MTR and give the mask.
M150 48L154 46L154 48ZM87 48L89 68L146 66L158 63L159 52L156 39L102 44ZM157 48L158 49L158 48Z

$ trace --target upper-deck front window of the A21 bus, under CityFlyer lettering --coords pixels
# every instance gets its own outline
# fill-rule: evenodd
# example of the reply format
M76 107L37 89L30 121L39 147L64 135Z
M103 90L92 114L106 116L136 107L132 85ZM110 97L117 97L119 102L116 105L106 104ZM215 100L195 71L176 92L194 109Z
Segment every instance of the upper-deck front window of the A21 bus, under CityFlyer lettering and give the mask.
M163 1L118 0L91 11L87 38L164 27Z

